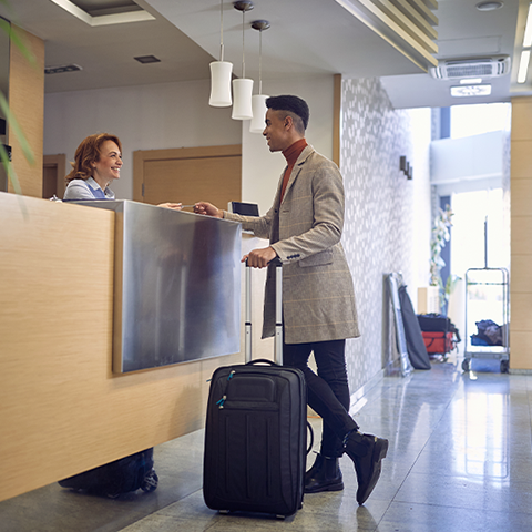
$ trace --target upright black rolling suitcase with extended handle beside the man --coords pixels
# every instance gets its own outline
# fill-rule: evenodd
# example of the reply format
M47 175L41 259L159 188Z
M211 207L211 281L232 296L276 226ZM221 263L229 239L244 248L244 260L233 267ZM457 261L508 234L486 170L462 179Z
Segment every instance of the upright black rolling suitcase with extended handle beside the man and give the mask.
M279 364L280 276L279 263L275 349ZM247 364L222 367L213 375L205 426L203 493L205 503L213 510L284 518L303 504L307 389L298 369L269 360L250 361L249 288L250 268L247 267Z

